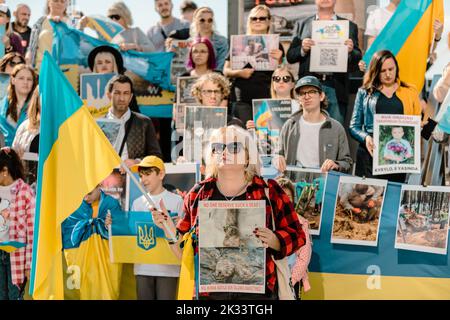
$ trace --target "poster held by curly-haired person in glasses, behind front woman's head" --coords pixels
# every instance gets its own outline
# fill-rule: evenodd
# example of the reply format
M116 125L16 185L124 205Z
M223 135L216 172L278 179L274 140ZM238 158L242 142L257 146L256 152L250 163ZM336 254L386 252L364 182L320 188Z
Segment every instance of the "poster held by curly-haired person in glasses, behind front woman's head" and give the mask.
M214 129L227 124L226 107L186 106L184 113L183 157L201 163Z

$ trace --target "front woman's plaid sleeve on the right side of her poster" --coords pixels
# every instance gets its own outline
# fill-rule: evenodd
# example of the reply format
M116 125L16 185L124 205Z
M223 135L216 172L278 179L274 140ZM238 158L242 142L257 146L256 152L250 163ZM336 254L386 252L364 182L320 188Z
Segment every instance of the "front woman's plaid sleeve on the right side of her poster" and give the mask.
M280 250L268 248L268 253L279 260L304 246L306 236L289 196L273 180L269 180L269 194L275 220L274 233L280 242Z

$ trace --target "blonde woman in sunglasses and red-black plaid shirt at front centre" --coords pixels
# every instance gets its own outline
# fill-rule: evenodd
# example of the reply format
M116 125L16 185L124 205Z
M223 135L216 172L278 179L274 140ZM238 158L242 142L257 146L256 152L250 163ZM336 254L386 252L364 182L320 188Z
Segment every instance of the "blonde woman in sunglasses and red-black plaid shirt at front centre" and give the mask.
M187 194L184 201L185 216L177 227L167 212L152 210L155 223L170 239L170 233L186 234L195 227L198 235L197 212L200 200L265 200L266 227L257 228L254 234L266 248L266 293L209 293L200 298L208 299L278 299L275 263L297 251L305 244L305 234L295 213L292 202L283 189L274 181L267 183L259 175L259 161L256 143L248 131L228 126L216 130L210 139L206 157L206 180L199 182ZM266 196L268 191L270 203ZM272 210L275 232L272 231ZM164 227L163 223L167 226ZM174 253L182 256L182 239L169 241ZM193 241L194 253L198 252L197 241ZM182 282L180 276L180 282Z

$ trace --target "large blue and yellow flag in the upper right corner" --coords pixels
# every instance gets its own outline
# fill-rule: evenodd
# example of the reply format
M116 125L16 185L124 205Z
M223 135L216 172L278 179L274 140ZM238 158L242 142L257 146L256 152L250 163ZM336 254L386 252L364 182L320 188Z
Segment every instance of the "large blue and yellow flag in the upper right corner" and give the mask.
M444 22L443 0L403 0L364 55L369 66L375 52L390 50L397 58L402 81L422 90L435 19Z

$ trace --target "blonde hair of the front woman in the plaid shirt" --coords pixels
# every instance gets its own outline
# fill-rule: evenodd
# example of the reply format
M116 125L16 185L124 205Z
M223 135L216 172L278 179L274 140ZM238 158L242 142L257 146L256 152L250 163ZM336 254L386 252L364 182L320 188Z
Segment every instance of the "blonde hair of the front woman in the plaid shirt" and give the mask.
M246 162L244 174L246 181L250 182L253 180L254 176L260 175L258 148L256 146L256 141L253 139L253 136L247 130L235 125L216 129L212 132L205 154L206 177L217 178L219 168L217 163L217 156L213 155L212 153L212 144L215 142L224 142L227 133L229 132L233 133L233 141L225 141L225 143L240 142L244 146Z

